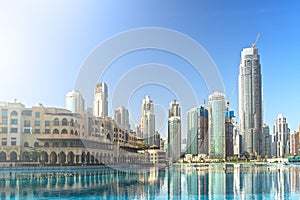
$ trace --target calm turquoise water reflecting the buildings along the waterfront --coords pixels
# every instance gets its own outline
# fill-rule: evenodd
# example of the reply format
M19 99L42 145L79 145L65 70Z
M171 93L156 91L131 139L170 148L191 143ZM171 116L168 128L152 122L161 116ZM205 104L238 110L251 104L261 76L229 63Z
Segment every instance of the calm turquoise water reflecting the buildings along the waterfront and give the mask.
M300 199L297 165L0 171L1 199ZM4 180L5 179L5 180Z

